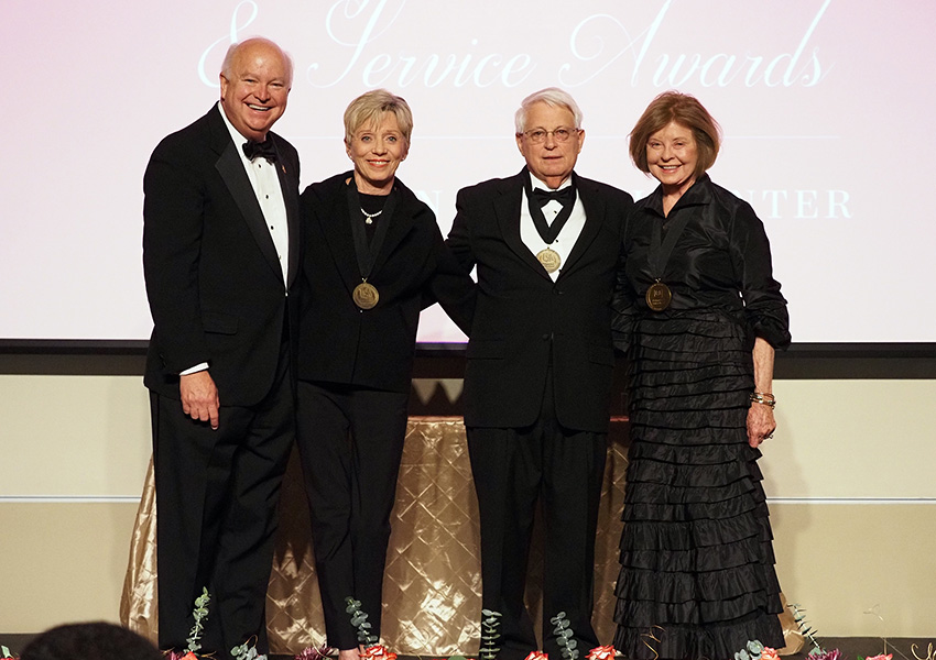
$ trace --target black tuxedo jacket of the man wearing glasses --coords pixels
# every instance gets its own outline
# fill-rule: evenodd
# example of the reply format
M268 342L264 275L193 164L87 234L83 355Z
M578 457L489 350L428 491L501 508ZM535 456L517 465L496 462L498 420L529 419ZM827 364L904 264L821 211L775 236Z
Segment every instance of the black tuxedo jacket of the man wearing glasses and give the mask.
M540 415L553 369L555 408L568 429L607 432L614 355L610 300L621 254L627 193L577 177L581 234L549 277L520 237L523 177L465 188L448 245L478 267L478 299L465 373L465 424L519 428Z

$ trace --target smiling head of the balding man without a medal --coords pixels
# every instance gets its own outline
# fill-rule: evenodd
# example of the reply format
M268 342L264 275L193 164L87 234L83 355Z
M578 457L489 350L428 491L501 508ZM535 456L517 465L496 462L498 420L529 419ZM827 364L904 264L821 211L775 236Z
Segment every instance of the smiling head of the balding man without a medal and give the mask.
M241 135L266 139L286 109L289 76L286 58L272 42L250 40L238 46L229 70L221 73L221 105Z

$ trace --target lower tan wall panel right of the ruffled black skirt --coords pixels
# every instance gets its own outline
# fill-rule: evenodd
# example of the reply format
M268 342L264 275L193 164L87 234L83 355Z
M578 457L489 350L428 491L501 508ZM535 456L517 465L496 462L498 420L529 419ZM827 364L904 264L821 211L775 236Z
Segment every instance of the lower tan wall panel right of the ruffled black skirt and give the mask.
M780 584L820 638L936 640L936 504L772 504L771 522Z

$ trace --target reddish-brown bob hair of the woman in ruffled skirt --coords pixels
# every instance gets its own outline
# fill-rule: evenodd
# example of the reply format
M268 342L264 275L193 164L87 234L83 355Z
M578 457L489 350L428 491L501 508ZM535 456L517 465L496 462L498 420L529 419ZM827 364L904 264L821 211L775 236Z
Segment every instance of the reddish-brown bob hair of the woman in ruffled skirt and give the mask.
M666 128L671 122L686 127L696 139L698 160L695 176L701 176L706 169L715 165L718 148L721 145L721 127L698 102L696 97L678 91L664 91L650 102L631 131L631 160L636 168L650 174L646 164L646 143L655 132Z

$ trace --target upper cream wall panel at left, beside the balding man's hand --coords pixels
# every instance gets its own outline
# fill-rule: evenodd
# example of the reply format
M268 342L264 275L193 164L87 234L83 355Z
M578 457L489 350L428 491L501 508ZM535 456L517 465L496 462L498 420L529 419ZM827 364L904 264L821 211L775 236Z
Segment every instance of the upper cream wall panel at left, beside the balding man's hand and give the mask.
M0 496L139 497L151 450L140 376L0 375Z

